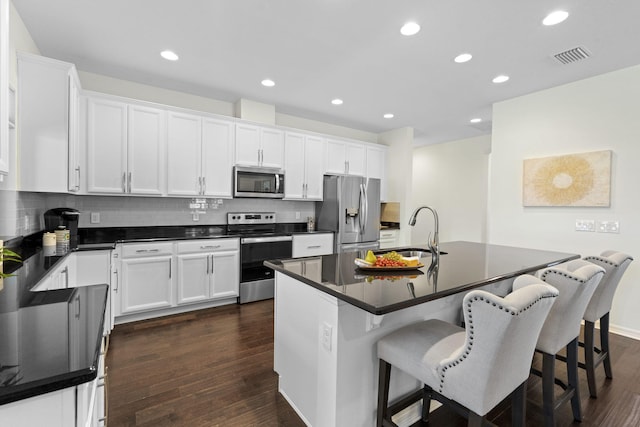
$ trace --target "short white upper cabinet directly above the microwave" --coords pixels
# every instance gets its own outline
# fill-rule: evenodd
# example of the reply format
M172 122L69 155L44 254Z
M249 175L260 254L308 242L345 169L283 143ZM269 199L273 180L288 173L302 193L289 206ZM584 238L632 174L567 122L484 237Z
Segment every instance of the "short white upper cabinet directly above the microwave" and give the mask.
M236 165L282 168L284 132L248 123L236 124Z

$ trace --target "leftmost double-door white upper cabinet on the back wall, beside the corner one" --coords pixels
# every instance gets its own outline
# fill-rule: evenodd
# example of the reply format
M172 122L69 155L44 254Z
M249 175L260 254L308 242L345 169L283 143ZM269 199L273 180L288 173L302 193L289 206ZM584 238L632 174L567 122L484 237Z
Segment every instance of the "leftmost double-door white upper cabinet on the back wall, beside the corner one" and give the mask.
M163 195L165 122L157 108L89 97L88 192Z

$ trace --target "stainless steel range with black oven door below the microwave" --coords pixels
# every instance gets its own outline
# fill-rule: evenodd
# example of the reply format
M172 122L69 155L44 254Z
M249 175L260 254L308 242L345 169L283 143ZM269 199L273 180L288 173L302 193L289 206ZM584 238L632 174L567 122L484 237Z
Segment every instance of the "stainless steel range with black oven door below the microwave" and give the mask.
M273 298L273 270L268 259L291 258L293 237L278 233L275 212L227 214L227 232L240 235L240 298L244 304Z

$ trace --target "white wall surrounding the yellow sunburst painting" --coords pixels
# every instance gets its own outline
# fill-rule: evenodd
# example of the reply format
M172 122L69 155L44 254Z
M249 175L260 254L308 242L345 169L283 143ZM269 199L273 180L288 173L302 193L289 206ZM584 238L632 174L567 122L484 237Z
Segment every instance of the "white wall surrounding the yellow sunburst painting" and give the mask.
M489 242L581 255L635 256L611 312L612 329L640 339L640 66L494 105ZM522 161L612 150L611 206L523 207ZM576 219L620 221L620 234L574 231Z

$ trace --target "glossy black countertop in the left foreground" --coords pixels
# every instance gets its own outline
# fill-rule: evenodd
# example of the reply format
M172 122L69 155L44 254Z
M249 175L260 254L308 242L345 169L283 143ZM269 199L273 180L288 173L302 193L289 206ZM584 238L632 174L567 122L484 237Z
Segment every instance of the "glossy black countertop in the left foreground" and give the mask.
M65 255L18 244L0 281L0 405L95 379L107 304L106 284L32 291Z

